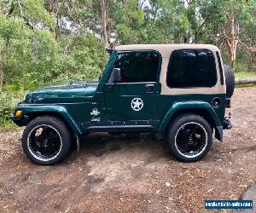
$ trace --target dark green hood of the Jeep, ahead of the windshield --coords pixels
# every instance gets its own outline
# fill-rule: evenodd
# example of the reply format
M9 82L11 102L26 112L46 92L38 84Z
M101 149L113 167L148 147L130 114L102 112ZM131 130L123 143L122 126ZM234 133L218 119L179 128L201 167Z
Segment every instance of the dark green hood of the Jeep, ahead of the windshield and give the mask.
M49 85L28 93L25 101L35 103L82 102L84 97L95 95L97 85L97 81Z

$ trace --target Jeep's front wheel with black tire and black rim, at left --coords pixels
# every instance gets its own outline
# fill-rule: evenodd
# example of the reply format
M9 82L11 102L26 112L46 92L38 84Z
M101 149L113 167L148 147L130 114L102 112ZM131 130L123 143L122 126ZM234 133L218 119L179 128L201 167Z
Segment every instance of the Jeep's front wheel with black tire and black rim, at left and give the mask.
M50 165L67 157L72 137L61 119L43 116L33 119L23 132L21 143L26 156L36 164Z

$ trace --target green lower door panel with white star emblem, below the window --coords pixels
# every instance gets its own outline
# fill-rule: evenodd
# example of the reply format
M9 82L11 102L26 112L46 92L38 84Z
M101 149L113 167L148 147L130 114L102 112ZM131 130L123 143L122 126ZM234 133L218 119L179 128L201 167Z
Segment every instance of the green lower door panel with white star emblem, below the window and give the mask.
M157 119L159 97L160 83L106 83L106 118L111 121Z

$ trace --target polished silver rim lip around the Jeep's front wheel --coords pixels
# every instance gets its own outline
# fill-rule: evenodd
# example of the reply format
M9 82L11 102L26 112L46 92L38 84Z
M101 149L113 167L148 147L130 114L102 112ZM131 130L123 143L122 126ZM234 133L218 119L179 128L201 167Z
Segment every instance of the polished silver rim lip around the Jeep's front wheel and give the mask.
M31 137L31 135L32 135L32 132L33 132L34 130L40 128L40 127L49 127L50 129L55 130L55 132L57 133L57 135L59 135L59 138L60 138L60 141L61 141L60 149L59 149L58 153L56 153L55 156L53 156L53 157L51 157L51 158L40 158L37 154L35 154L35 153L32 151L32 149L31 149L31 147L30 147L30 141L29 141L29 139L30 139L30 137ZM58 155L61 153L61 149L62 149L61 134L59 133L58 130L56 130L56 129L55 129L53 126L51 126L51 125L48 125L48 124L40 124L40 125L37 125L37 126L35 126L35 127L29 132L29 134L28 134L28 136L27 136L27 139L26 139L26 146L27 146L27 148L28 148L29 153L32 154L33 158L36 158L36 159L38 159L38 160L40 160L40 161L43 161L43 162L51 161L51 160L57 158Z

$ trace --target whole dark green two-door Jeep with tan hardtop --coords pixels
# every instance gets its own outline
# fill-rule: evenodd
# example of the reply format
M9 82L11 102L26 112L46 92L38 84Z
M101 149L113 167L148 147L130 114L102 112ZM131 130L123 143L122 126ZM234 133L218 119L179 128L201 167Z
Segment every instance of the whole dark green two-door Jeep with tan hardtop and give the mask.
M127 45L113 49L98 81L48 86L26 95L11 117L26 126L22 147L37 164L66 158L90 132L154 132L172 155L203 158L214 133L230 129L235 78L220 52L204 44Z

